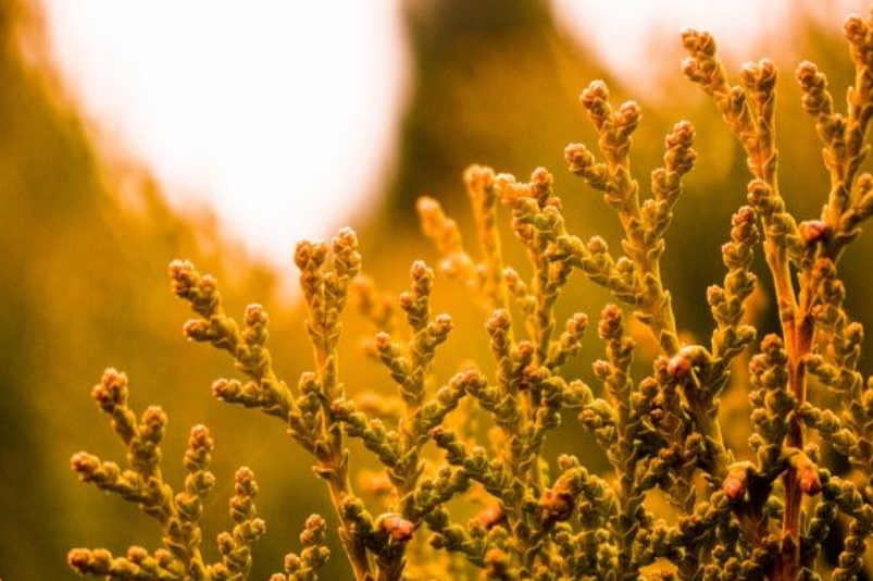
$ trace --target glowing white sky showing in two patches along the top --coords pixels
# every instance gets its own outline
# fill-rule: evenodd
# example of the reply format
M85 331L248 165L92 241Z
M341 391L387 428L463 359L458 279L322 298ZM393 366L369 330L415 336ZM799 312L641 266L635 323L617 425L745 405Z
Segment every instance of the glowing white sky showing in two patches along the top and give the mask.
M363 223L403 111L401 0L42 2L63 78L101 143L142 160L176 207L208 201L230 234L283 267L298 239ZM786 34L798 2L838 29L868 0L552 5L633 85L653 81L647 63L684 25L745 60Z

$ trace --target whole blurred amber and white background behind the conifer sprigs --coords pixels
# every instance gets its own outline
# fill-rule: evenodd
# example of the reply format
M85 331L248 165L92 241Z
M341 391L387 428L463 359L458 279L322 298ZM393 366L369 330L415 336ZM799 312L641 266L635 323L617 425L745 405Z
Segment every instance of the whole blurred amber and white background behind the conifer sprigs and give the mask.
M188 312L170 293L166 264L188 258L216 274L234 313L264 304L274 360L296 383L311 360L295 243L349 224L365 271L397 293L413 259L437 260L417 231L422 194L440 199L475 248L461 183L470 163L520 178L549 168L571 230L618 244L612 211L562 160L565 144L596 140L577 104L595 78L616 101L644 107L634 157L644 191L673 123L697 127L698 168L668 235L664 279L683 331L706 341L704 290L723 277L719 249L747 175L713 104L678 72L678 30L711 29L732 71L762 55L777 62L783 187L807 219L824 202L827 181L793 71L813 60L841 94L852 66L840 24L864 8L861 0L375 0L260 1L241 11L214 0L0 0L0 577L73 579L72 546L160 543L136 507L79 484L68 468L78 449L123 460L89 396L107 366L127 372L137 409L160 404L169 413L164 468L174 484L189 427L211 428L219 486L204 520L208 555L229 523L234 469L254 470L269 533L253 578L278 570L282 555L299 548L305 516L331 520L332 508L279 424L213 400L211 382L233 367L186 344ZM525 271L507 225L510 262ZM873 240L862 236L841 268L861 321L873 317L864 300L871 259ZM437 308L457 322L438 381L470 358L489 366L484 316L460 290L437 281ZM769 296L764 283L756 301L762 331L776 323ZM596 317L607 300L576 277L559 317ZM350 312L342 356L352 396L391 390L387 372L362 354L367 334ZM645 362L651 346L641 342ZM590 380L601 346L594 333L586 345L568 373ZM735 399L741 415L743 394ZM573 423L550 452L602 466ZM728 436L741 457L745 432ZM363 450L353 458L375 467ZM457 507L459 517L465 510ZM337 552L326 579L347 578Z

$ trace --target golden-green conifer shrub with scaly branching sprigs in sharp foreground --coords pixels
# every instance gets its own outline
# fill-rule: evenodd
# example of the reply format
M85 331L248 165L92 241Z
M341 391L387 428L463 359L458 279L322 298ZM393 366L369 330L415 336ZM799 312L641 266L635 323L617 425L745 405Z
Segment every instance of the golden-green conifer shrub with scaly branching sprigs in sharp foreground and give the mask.
M662 166L651 173L651 196L643 199L629 164L640 108L633 101L613 107L601 82L581 98L601 159L576 144L564 157L570 171L616 211L624 231L620 250L568 230L544 169L528 182L478 165L466 171L478 259L436 200L419 202L424 233L441 257L439 271L469 288L487 312L492 373L467 367L433 387L432 363L452 330L451 318L432 309L434 270L422 261L412 265L411 286L399 297L409 326L401 341L390 301L361 274L349 228L331 245L297 247L314 371L295 387L273 369L261 306L249 306L237 323L225 313L213 277L185 261L171 264L173 292L197 316L185 324L186 335L227 351L247 378L217 380L213 394L276 418L312 456L357 581L432 578L429 566L448 560L422 560L407 551L425 530L434 555L465 559L496 580L820 579L822 544L837 518L849 527L832 579L858 578L873 532L873 380L864 383L858 371L863 333L843 308L837 263L873 213L873 176L861 172L873 115L873 21L851 16L845 35L856 66L845 113L835 111L814 64L801 63L796 73L831 177L821 218L798 224L780 194L775 66L769 60L744 65L739 83L732 84L712 37L683 33L690 53L684 72L712 97L751 174L747 205L734 214L722 247L724 282L707 293L714 320L708 345L683 344L660 276L664 233L695 163L694 127L683 121L666 136ZM529 280L503 262L499 202L526 249ZM757 285L757 248L773 280L781 322L781 333L760 339L744 317ZM606 287L648 327L659 349L648 376L632 376L635 341L616 305L606 306L597 324L606 356L594 362L594 373L602 390L562 371L578 356L588 325L584 313L566 321L556 316L561 290L576 272ZM340 381L340 320L351 296L378 330L372 350L397 384L394 420L362 409ZM757 354L749 385L739 388L751 405L751 436L748 452L738 454L747 459L738 460L725 445L719 397L738 381L739 356L750 349ZM824 407L825 391L838 396L839 409ZM164 547L132 547L124 557L77 548L70 553L71 566L113 580L247 579L250 547L264 532L251 471L236 474L234 527L219 536L221 560L207 564L199 526L214 482L207 429L191 430L188 475L174 494L160 470L166 421L160 408L137 419L127 405L127 380L113 370L93 396L127 447L129 468L86 453L73 457L73 468L82 480L154 518ZM476 445L463 422L450 423L464 400L497 428L490 446ZM613 474L596 474L570 455L557 462L544 455L548 434L568 416L594 435ZM384 467L379 482L390 491L389 511L371 514L353 490L347 438L360 440ZM853 470L847 478L823 466L819 442L848 459ZM440 450L438 460L425 458L432 445ZM479 516L466 524L452 520L450 500L483 494L489 503ZM657 494L668 499L668 509L648 502ZM325 534L324 519L311 517L301 536L304 548L286 557L284 573L273 581L316 579L329 555Z

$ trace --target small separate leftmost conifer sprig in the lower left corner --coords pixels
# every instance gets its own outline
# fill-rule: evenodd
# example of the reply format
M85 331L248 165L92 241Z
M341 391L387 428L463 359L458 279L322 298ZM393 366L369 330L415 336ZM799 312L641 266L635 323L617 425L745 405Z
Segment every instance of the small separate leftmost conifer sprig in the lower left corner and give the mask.
M132 469L123 470L114 462L102 461L84 452L73 456L71 466L84 482L139 505L162 529L164 547L149 554L133 546L123 557L103 548L74 548L67 556L70 566L83 574L124 581L247 578L251 569L251 546L264 534L264 522L254 512L258 485L251 470L240 468L236 473L236 495L230 499L235 527L232 532L219 535L222 559L209 565L200 551L200 520L215 484L215 477L209 471L213 447L209 430L203 425L191 429L185 450L185 486L174 495L160 470L159 445L166 424L163 411L150 407L137 421L127 405L127 378L114 369L103 373L92 395L98 407L112 417L115 433L127 447Z

